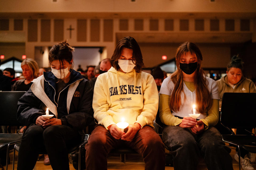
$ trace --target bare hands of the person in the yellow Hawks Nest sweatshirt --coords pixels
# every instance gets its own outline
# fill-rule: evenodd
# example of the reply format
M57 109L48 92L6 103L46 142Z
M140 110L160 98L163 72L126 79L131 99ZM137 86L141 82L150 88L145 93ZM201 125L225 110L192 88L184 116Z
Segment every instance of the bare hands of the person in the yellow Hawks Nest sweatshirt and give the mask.
M131 140L133 140L137 131L141 128L141 125L139 123L135 123L133 125L129 125L127 128L128 128L128 131L126 133L124 133L124 132L122 132L122 130L120 128L117 127L116 124L108 126L108 129L109 129L111 135L115 139L122 139L124 141L131 141Z

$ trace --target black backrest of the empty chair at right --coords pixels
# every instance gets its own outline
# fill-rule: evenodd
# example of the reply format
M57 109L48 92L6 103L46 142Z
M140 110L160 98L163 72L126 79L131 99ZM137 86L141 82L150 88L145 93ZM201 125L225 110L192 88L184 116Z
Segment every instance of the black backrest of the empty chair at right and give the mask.
M256 93L224 93L221 124L228 128L256 126Z

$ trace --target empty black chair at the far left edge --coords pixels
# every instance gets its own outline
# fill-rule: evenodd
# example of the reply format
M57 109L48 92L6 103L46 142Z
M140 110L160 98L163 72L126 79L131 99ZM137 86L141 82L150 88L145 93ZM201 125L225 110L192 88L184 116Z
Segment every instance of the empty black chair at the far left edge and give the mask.
M1 126L21 126L17 121L17 103L25 91L5 91L0 92L0 125ZM23 134L0 134L0 150L7 148L6 169L8 168L9 150L11 145L21 142ZM14 167L14 157L13 157Z

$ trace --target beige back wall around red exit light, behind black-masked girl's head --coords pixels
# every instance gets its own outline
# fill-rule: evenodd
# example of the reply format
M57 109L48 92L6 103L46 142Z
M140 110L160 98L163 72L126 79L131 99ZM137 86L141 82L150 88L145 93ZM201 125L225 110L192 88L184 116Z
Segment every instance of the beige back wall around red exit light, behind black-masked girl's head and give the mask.
M154 67L175 58L179 44L139 43L145 67ZM197 44L203 55L204 68L225 68L230 61L229 44ZM162 60L162 56L167 60Z

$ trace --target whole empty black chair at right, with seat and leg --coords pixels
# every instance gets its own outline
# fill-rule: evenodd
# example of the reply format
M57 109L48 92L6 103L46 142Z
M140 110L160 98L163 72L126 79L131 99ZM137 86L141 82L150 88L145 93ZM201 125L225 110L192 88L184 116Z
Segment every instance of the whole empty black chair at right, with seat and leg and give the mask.
M256 93L224 93L221 106L221 124L231 135L222 135L222 140L238 147L239 169L240 148L256 153L256 136L235 135L231 128L255 128L256 126Z

